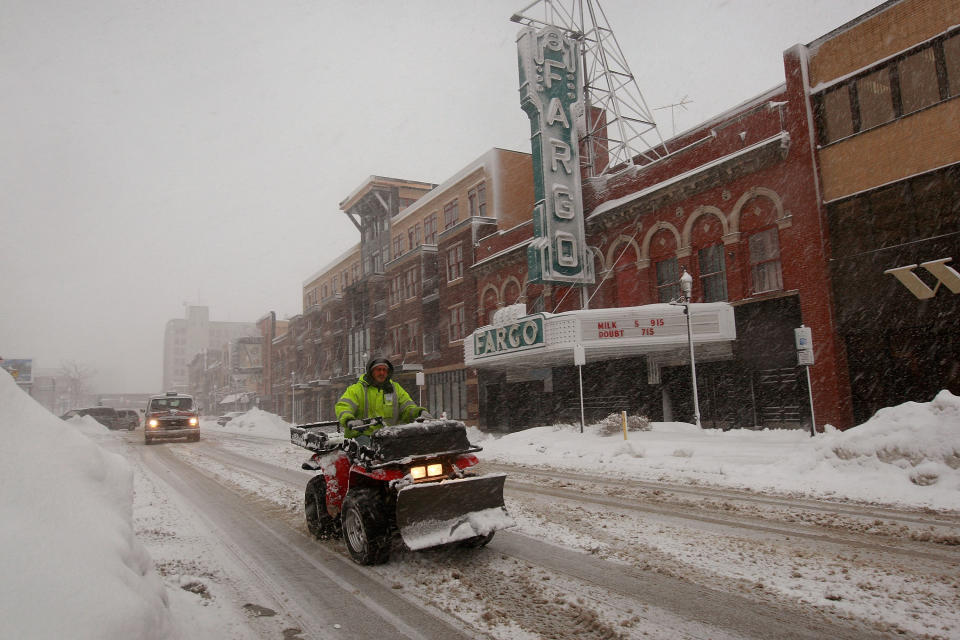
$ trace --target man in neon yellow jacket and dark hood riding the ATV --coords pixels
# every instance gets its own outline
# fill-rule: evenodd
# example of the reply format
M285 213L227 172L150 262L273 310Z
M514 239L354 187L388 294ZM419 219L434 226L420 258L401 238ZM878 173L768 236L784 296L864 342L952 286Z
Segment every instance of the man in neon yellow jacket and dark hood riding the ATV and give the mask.
M433 417L417 406L392 376L393 364L389 360L373 358L367 363L367 372L343 392L336 412L345 437L369 436L384 425ZM382 422L365 425L364 421L370 418L380 418Z

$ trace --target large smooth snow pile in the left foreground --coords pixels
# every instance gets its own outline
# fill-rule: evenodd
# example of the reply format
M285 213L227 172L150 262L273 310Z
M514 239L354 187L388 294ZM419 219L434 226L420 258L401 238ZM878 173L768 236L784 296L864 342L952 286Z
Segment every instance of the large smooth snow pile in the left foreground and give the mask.
M134 537L133 474L0 372L0 638L166 638L163 583Z

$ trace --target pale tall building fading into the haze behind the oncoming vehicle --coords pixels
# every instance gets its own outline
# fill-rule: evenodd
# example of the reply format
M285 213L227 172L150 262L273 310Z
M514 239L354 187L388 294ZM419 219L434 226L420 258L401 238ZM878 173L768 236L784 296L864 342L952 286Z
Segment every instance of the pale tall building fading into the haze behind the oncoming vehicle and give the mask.
M163 335L163 391L187 393L189 365L204 350L259 335L253 322L215 322L205 306L188 306L184 319L167 321Z

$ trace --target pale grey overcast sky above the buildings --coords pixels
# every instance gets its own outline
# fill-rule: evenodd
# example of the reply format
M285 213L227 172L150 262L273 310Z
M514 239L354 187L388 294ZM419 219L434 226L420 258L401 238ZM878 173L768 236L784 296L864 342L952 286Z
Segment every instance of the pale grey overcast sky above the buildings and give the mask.
M155 392L163 329L301 310L371 174L529 152L509 21L528 0L0 1L0 356ZM783 82L877 0L605 0L677 131ZM655 116L669 137L668 109Z

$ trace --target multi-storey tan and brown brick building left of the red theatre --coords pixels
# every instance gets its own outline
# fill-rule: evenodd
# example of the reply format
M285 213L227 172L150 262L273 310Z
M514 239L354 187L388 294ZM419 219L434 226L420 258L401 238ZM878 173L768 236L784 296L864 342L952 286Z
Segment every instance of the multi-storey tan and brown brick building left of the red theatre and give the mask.
M332 418L344 389L382 355L431 411L475 421L476 374L463 361L464 337L478 326L474 247L529 217L532 201L530 156L503 149L440 185L361 184L340 203L360 242L304 282L303 314L273 338L275 410Z

